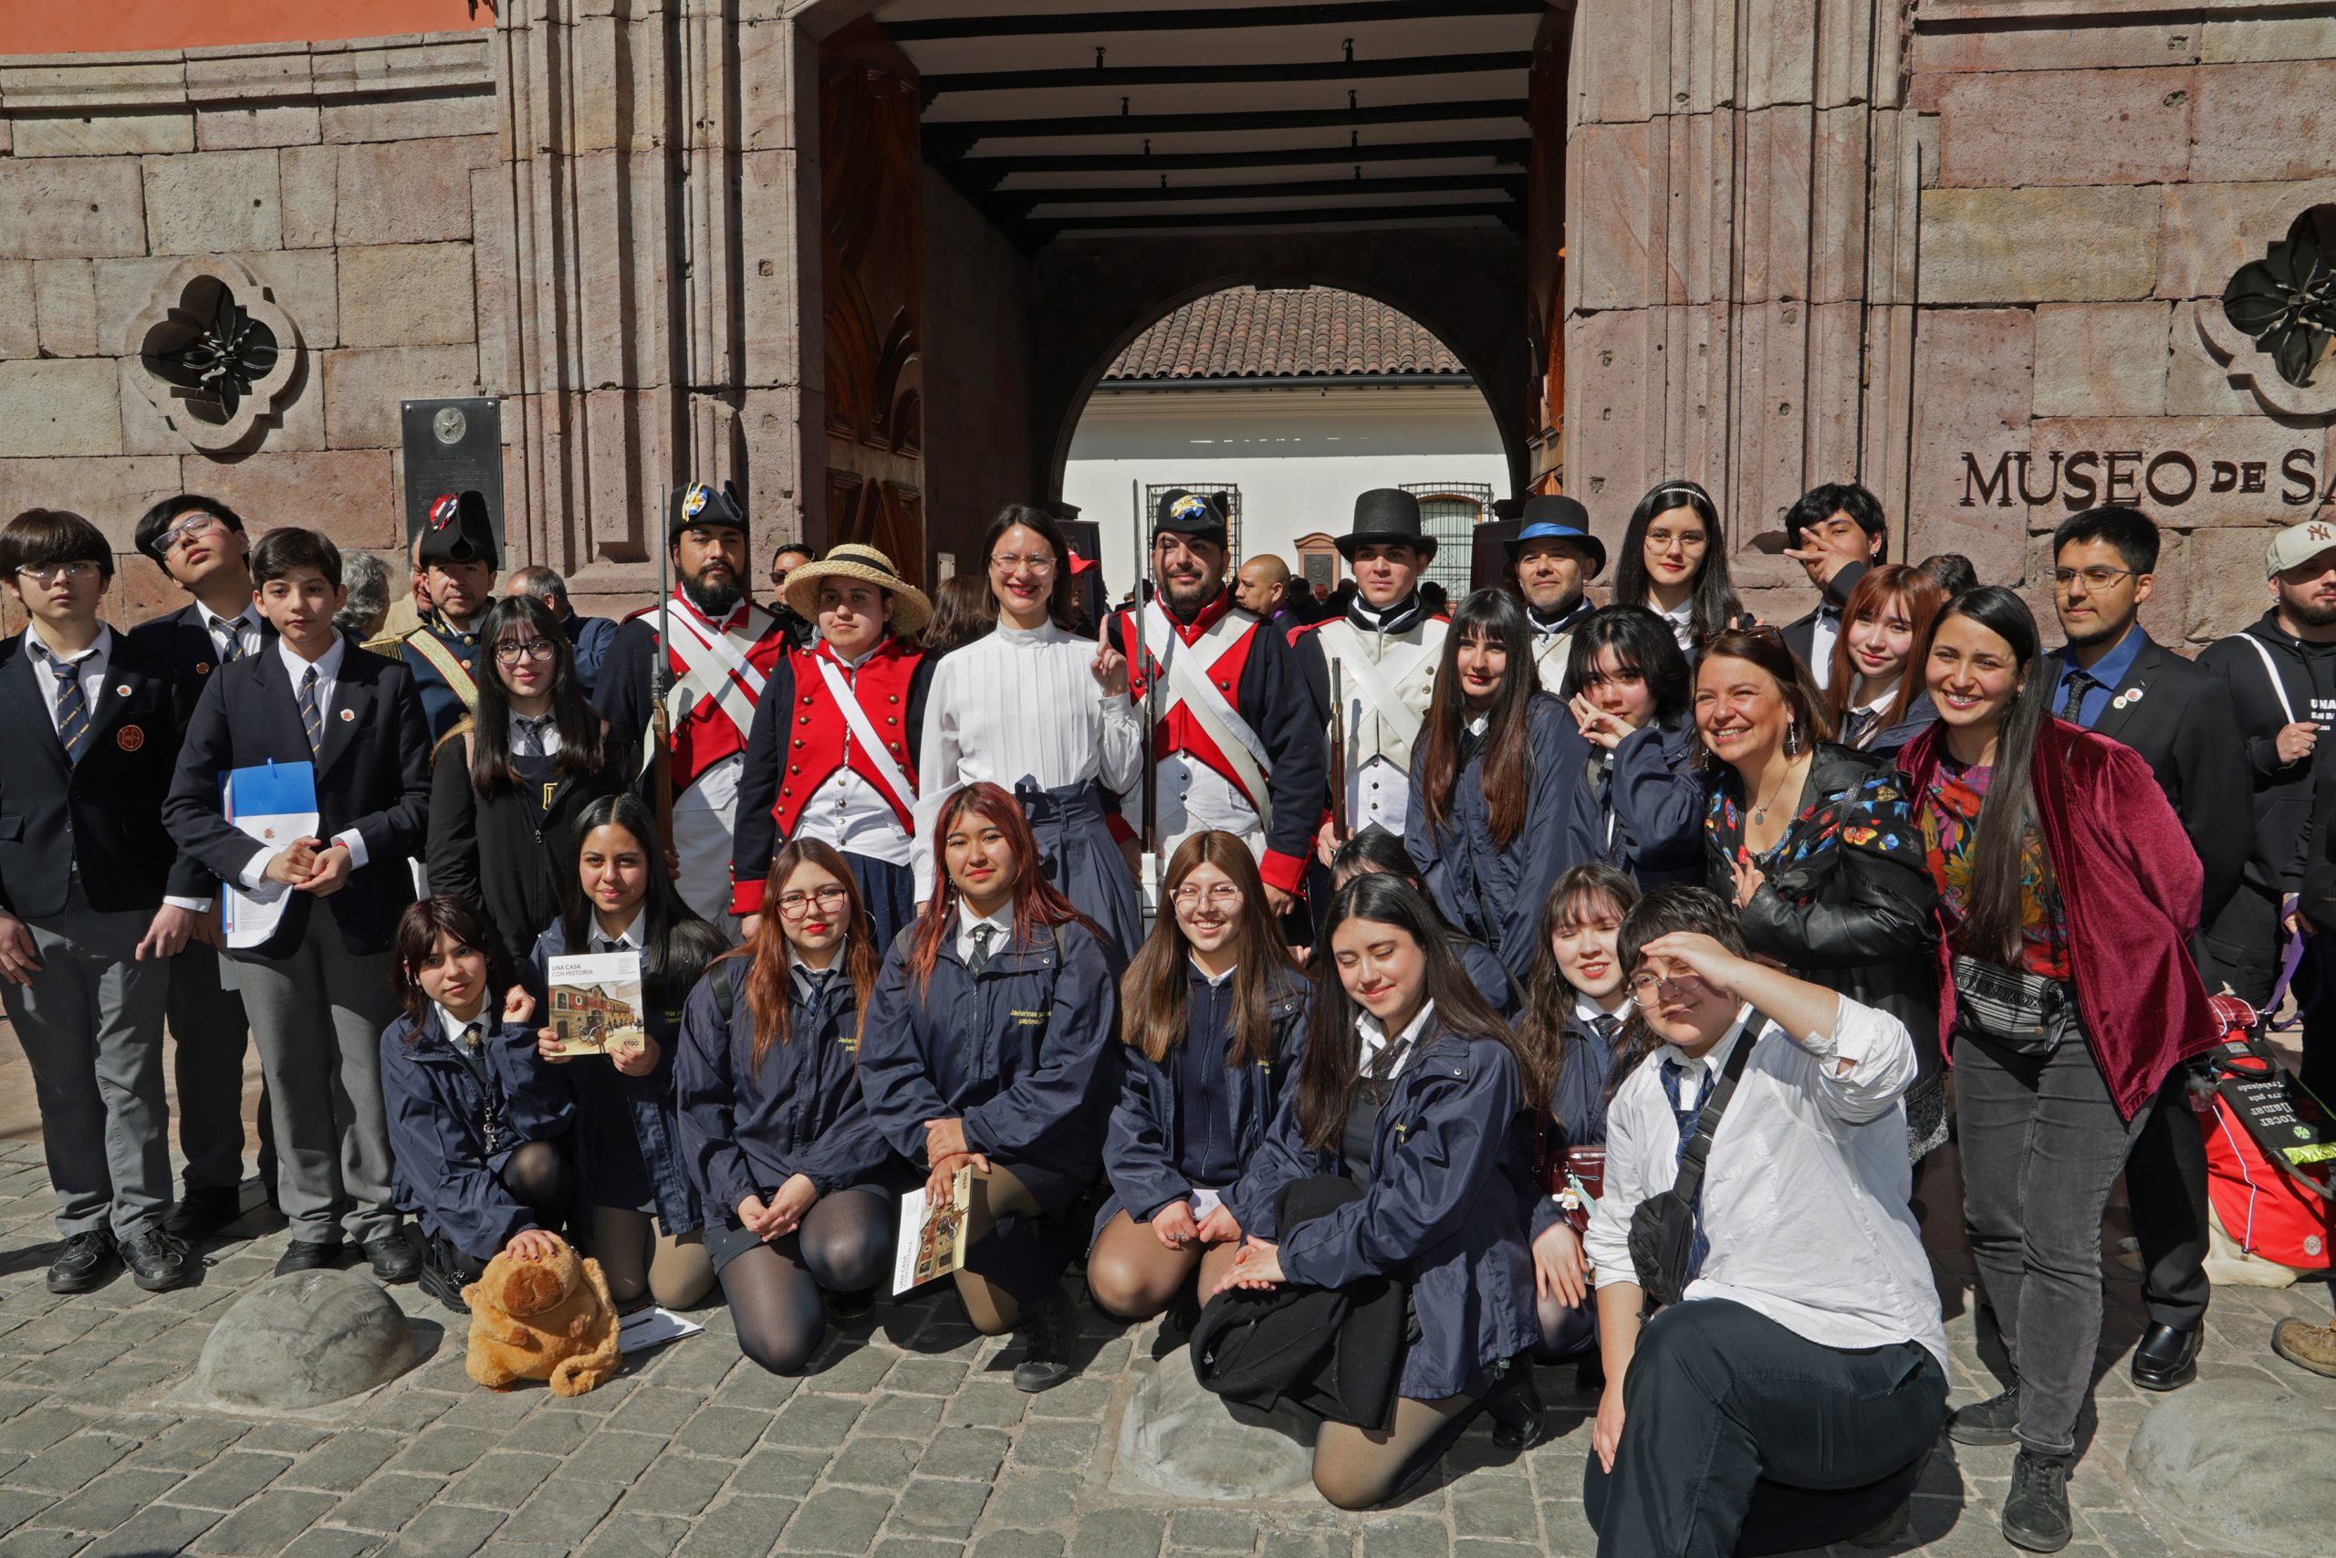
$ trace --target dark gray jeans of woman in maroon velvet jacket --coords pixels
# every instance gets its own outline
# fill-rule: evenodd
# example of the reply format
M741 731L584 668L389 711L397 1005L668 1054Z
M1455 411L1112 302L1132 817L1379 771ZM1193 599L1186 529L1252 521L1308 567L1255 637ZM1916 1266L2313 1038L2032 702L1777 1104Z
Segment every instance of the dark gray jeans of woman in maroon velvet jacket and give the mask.
M2077 1448L2100 1345L2100 1215L2149 1110L2116 1117L2081 1032L2049 1058L1955 1039L1962 1222L2021 1378L2021 1444Z

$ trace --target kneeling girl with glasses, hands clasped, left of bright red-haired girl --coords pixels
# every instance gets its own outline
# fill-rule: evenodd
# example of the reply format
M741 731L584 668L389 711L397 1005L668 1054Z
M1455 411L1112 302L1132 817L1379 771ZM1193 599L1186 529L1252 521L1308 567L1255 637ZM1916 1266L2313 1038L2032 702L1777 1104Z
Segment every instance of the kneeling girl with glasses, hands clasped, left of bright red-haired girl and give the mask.
M864 1315L890 1275L897 1196L916 1182L860 1098L860 1032L881 955L841 850L771 860L750 946L682 1009L682 1154L738 1350L801 1373L829 1313Z

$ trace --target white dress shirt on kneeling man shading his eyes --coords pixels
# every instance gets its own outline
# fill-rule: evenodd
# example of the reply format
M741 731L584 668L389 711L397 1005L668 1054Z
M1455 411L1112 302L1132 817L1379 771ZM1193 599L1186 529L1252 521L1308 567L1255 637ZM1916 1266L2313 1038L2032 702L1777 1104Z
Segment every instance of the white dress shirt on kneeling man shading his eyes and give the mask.
M1750 1014L1750 1007L1745 1009ZM1703 1065L1717 1072L1738 1030ZM1635 1282L1631 1212L1680 1173L1680 1121L1656 1049L1607 1110L1605 1194L1584 1236L1598 1285ZM1841 1070L1848 1063L1848 1070ZM1885 1011L1841 997L1834 1030L1759 1032L1703 1166L1710 1254L1687 1299L1731 1299L1822 1348L1916 1341L1946 1366L1939 1289L1906 1210L1906 1110L1913 1039ZM1698 1084L1701 1086L1701 1084Z

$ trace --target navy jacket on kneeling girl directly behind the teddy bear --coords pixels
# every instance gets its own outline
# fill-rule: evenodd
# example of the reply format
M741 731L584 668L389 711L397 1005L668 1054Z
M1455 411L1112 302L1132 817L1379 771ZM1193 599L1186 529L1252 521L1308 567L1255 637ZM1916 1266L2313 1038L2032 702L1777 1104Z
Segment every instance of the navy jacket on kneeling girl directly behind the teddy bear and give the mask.
M498 1173L521 1142L565 1135L575 1124L575 1100L568 1084L535 1058L533 1028L500 1025L486 1011L481 1021L488 1037L479 1053L502 1086L502 1119L512 1131L505 1152L486 1152L486 1093L446 1042L437 1007L427 1007L420 1023L399 1016L381 1030L381 1103L390 1117L397 1205L463 1254L491 1259L514 1233L535 1226L535 1212L502 1189Z

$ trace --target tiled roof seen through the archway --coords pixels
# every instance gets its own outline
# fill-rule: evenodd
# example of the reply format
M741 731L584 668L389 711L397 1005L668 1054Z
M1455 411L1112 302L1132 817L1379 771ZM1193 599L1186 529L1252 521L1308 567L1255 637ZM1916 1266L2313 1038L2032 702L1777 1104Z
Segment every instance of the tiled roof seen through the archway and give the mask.
M1355 292L1231 287L1184 304L1135 336L1112 381L1296 378L1343 374L1465 376L1411 318Z

